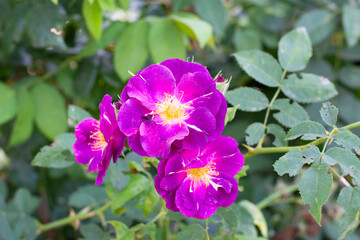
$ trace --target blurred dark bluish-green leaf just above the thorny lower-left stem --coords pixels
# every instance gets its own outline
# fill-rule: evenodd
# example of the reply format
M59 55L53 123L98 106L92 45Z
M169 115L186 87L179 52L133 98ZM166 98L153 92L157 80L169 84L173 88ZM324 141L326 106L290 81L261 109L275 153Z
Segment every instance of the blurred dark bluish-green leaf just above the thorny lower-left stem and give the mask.
M86 185L70 195L69 205L77 208L86 206L95 207L108 200L104 187Z

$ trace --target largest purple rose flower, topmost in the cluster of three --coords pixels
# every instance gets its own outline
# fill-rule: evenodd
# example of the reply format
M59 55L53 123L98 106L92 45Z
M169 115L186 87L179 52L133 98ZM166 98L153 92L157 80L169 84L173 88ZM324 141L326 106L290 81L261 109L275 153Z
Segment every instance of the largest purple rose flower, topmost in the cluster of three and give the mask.
M142 156L194 149L224 129L226 100L200 64L169 59L132 77L121 94L119 127Z

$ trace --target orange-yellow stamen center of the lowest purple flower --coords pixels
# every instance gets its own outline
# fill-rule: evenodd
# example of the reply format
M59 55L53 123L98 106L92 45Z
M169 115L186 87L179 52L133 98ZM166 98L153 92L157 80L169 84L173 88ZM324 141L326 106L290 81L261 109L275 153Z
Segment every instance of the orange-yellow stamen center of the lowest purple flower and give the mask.
M219 175L219 172L216 171L215 165L216 163L209 163L202 168L186 169L187 177L191 179L192 185L194 185L194 187L199 186L202 183L205 183L206 187L208 187L209 184L214 185L211 179L214 176Z

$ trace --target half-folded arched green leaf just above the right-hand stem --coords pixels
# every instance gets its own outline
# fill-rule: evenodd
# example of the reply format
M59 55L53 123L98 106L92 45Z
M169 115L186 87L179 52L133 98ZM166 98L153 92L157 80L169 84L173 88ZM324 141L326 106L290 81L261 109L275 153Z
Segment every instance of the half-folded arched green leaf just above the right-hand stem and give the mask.
M317 137L326 138L325 128L317 122L305 121L292 127L286 135L287 140L301 137L302 140L314 140Z

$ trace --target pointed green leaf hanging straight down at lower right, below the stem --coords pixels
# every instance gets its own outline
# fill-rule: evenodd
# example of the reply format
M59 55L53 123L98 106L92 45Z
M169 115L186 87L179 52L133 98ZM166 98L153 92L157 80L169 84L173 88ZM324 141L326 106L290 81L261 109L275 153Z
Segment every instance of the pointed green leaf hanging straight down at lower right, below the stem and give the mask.
M304 203L310 205L310 214L321 225L321 208L331 193L332 175L327 174L327 165L312 165L301 177L299 191Z

